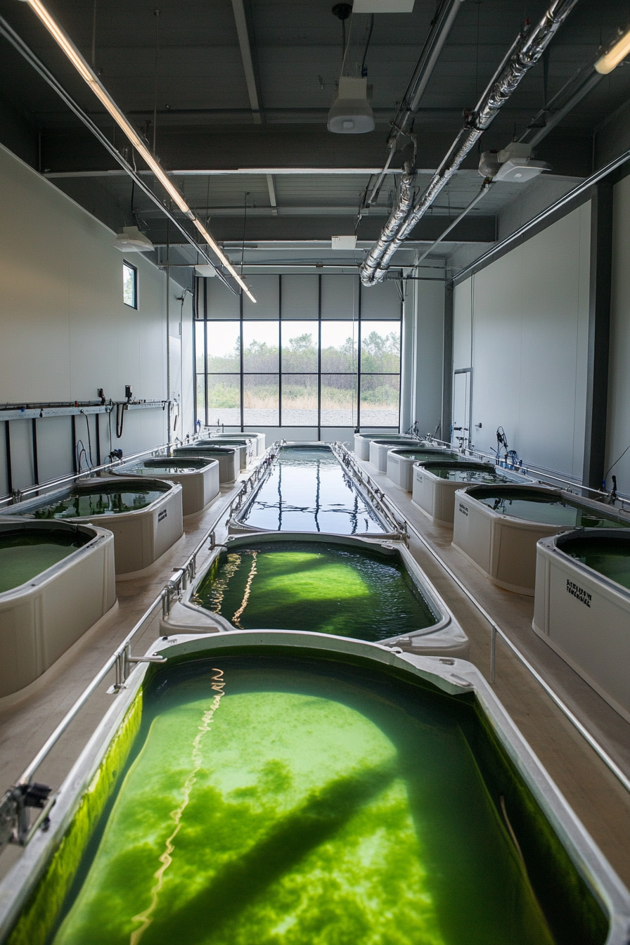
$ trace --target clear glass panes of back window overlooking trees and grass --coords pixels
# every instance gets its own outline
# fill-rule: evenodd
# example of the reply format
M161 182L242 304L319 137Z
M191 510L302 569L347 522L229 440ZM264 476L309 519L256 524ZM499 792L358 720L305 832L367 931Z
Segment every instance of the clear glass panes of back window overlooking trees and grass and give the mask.
M400 321L196 321L196 406L229 426L399 425Z

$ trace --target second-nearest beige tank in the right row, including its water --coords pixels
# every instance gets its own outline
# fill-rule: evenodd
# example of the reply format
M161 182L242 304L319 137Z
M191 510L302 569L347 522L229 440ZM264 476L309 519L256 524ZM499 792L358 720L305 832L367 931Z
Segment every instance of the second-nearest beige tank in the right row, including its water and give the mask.
M623 528L630 518L547 486L469 486L455 492L452 544L506 591L534 595L536 542L576 527Z

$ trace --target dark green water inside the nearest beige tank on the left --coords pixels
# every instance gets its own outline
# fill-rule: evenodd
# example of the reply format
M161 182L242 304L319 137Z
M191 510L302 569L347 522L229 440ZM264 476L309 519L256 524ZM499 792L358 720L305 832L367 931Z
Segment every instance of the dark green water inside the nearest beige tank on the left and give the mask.
M88 536L63 531L0 532L0 593L26 584L87 541Z

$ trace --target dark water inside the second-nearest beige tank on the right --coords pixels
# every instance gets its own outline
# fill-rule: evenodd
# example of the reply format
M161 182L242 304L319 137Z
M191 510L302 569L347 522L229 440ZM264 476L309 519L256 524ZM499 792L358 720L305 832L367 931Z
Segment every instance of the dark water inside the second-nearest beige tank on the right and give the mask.
M482 488L471 492L470 497L500 515L540 524L569 525L570 528L627 528L630 524L630 521L620 522L613 516L606 515L604 511L598 514L599 509L581 506L579 502L571 502L570 499L529 492L527 486L502 490L501 493Z

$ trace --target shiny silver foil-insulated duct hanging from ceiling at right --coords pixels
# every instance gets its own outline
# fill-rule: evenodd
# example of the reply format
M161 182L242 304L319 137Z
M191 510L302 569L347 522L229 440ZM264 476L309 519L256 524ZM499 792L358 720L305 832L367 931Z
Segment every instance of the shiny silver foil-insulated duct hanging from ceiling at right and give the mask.
M400 248L402 241L414 229L442 188L451 180L470 149L500 112L510 95L518 88L522 77L540 59L576 3L577 0L553 0L552 6L538 25L531 29L524 29L519 34L516 43L503 60L474 112L467 115L464 128L455 138L449 153L435 171L418 202L411 209L403 211L399 201L392 211L381 236L370 249L359 269L361 282L364 285L383 282L389 262L396 250ZM410 178L409 173L402 175L400 194L411 182Z

